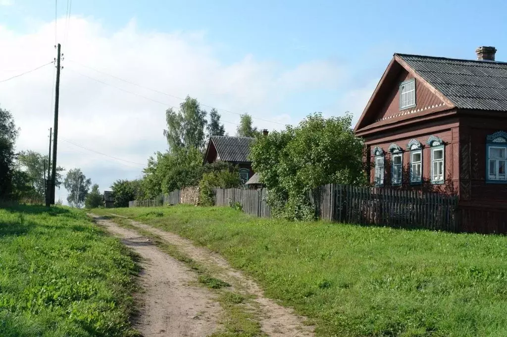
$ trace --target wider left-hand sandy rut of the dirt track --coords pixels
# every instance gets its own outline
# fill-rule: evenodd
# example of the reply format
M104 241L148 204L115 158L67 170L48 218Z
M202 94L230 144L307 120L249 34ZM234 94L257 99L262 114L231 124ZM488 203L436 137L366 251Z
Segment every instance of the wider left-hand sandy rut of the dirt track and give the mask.
M213 293L194 286L196 275L135 231L92 216L142 258L139 297L143 307L134 327L144 336L207 336L218 330L221 307Z

